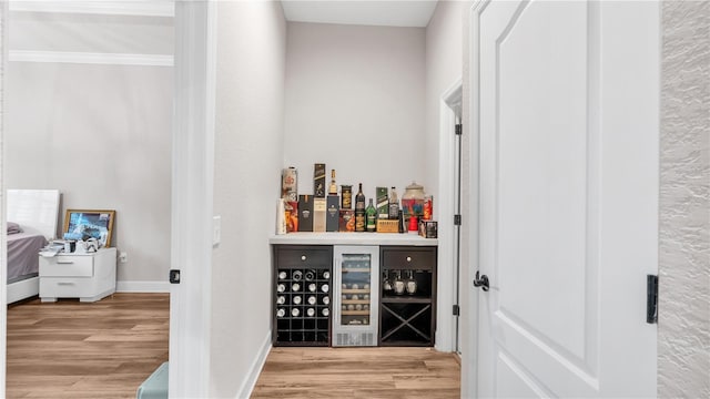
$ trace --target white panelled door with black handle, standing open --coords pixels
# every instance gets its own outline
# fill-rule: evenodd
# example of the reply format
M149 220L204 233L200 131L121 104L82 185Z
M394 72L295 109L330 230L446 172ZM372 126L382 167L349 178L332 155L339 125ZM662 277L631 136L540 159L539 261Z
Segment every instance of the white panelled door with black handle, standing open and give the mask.
M655 397L659 6L481 2L471 29L478 393Z

